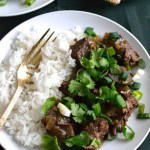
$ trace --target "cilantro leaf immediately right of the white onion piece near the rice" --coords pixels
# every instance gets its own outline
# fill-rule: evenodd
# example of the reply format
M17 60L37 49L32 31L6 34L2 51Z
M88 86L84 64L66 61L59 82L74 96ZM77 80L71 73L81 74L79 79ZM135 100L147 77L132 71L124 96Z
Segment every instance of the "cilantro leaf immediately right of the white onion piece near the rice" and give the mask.
M71 104L71 113L75 122L82 123L85 121L85 111L78 104Z

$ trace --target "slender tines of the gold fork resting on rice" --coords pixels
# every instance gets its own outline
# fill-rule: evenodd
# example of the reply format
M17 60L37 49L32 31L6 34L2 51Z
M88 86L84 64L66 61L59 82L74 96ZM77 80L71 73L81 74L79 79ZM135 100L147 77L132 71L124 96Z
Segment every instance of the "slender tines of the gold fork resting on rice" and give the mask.
M46 32L41 36L41 38L37 41L37 43L33 45L29 53L25 56L25 59L23 60L22 64L24 65L33 64L35 68L38 67L39 62L42 59L41 48L46 45L46 43L52 38L53 34L55 33L53 31L52 33L50 33L50 35L48 35L49 32L50 32L50 28L47 29ZM55 37L52 40L52 42L54 42L56 38L57 37Z

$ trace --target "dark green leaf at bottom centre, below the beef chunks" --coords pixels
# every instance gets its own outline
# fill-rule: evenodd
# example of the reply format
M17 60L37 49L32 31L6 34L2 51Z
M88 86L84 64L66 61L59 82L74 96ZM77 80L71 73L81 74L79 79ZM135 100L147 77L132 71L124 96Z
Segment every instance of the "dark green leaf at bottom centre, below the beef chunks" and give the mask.
M68 138L64 142L68 147L77 146L85 148L90 143L90 136L86 131L82 131L80 134Z

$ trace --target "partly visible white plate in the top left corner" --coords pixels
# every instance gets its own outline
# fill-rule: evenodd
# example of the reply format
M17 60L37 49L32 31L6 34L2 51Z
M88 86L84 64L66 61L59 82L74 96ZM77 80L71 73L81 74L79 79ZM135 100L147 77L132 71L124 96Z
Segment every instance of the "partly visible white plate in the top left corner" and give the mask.
M8 0L5 6L0 7L0 17L26 14L44 7L53 2L54 0L36 0L31 6L24 5L23 1Z

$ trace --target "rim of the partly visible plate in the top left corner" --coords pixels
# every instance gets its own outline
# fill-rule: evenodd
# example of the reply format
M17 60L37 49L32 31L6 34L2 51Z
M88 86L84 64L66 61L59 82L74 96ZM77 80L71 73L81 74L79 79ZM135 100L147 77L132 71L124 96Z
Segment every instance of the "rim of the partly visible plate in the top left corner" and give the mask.
M31 13L33 11L36 11L38 9L41 9L45 6L47 6L48 4L54 2L55 0L48 0L47 2L45 2L44 4L37 6L37 7L33 7L31 9L25 10L25 11L19 11L19 12L15 12L15 13L8 13L8 14L0 14L0 17L13 17L13 16L20 16L20 15L24 15L24 14L28 14ZM2 6L5 7L5 6ZM30 7L30 6L29 6Z

